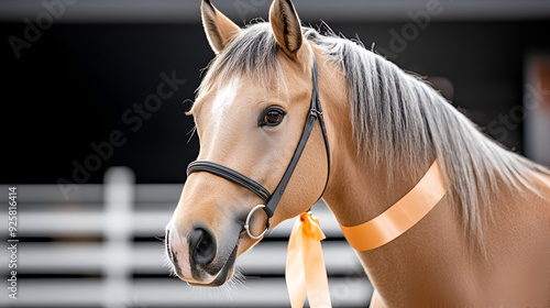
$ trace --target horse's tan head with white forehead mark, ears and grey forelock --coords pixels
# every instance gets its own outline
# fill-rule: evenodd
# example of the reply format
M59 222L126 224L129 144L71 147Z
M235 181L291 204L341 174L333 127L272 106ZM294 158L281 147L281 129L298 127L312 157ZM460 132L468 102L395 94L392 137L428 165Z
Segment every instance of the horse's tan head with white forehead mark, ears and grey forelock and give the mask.
M245 29L210 1L202 1L201 14L217 56L189 111L200 141L197 161L215 162L273 193L310 112L312 46L290 1L275 0L268 22ZM243 186L209 172L190 173L166 227L177 276L191 285L220 286L266 226L307 211L328 180L323 136L315 125L273 217L255 210L265 200Z

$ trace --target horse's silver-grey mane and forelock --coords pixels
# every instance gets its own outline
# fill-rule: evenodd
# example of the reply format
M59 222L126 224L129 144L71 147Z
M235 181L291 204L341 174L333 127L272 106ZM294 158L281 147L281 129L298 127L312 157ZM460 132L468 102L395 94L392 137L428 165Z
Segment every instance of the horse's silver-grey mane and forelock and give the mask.
M330 29L326 34L306 26L302 30L345 76L358 155L404 176L421 175L426 172L421 166L438 157L450 184L449 196L455 200L473 243L483 248L484 213L491 212L491 195L503 189L498 182L509 189L537 193L529 175L550 174L488 139L426 81L361 42L336 35ZM229 80L233 74L270 84L284 74L278 52L268 23L249 25L212 61L199 94L215 79Z

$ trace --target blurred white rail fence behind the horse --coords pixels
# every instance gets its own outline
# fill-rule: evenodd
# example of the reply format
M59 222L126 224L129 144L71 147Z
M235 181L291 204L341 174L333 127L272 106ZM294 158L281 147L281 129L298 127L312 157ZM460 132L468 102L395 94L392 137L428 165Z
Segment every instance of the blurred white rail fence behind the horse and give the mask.
M127 168L110 169L105 185L81 185L69 200L57 185L19 185L18 299L8 297L3 279L0 307L289 307L284 267L293 221L239 257L243 284L202 289L169 276L157 239L180 189L134 185ZM8 200L8 186L0 191ZM0 212L6 246L7 208ZM367 307L372 286L354 252L324 205L314 211L329 239L323 252L333 307ZM9 257L1 249L3 274Z

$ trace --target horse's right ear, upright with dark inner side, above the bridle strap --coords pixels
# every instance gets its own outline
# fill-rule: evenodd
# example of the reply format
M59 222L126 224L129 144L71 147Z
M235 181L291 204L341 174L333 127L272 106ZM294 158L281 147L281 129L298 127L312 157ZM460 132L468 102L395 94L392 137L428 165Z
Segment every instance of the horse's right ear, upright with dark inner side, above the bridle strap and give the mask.
M270 23L280 48L290 57L297 57L297 52L304 41L300 19L290 0L274 0L270 9Z

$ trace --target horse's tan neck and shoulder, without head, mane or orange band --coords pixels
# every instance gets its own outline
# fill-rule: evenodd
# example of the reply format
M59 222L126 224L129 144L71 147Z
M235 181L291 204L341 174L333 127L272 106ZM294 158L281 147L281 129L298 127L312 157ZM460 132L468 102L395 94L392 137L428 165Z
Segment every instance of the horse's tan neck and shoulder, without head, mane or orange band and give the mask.
M322 53L317 51L316 54L320 59L320 99L332 154L331 175L323 199L340 224L361 224L405 196L436 157L427 157L418 164L388 161L392 157L370 160L369 148L360 151L353 133L345 77L336 64L322 57ZM473 127L470 129L474 131ZM512 162L509 157L501 160ZM481 300L486 302L502 300L503 294L509 294L510 298L518 294L530 297L531 293L508 292L517 287L513 283L515 279L503 279L498 275L514 268L525 275L522 278L531 279L535 275L526 271L528 265L539 265L538 258L548 260L547 255L542 255L539 243L540 239L548 242L550 173L526 160L514 162L516 167L519 164L530 166L536 174L525 179L534 190L522 189L518 194L510 186L506 173L497 174L494 191L483 191L491 204L491 211L482 211L480 217L485 221L483 251L472 250L472 238L464 229L468 226L457 211L460 200L448 194L424 219L397 239L377 249L358 252L371 282L388 307L440 307L432 305L437 300L454 302L455 307L461 306L459 302L465 302L463 307L488 307L475 305L480 300L476 294L485 294L488 298ZM518 169L528 173L528 167ZM481 197L477 194L477 198ZM510 248L514 248L513 253ZM530 257L527 255L534 255L529 260L535 261L526 262L526 257ZM496 268L495 264L501 264L501 267ZM548 266L548 262L540 266ZM532 280L536 282L534 285L547 284L546 272L538 273L538 276L541 277ZM507 282L510 282L509 285ZM548 298L548 294L544 296ZM431 306L424 305L426 298Z

